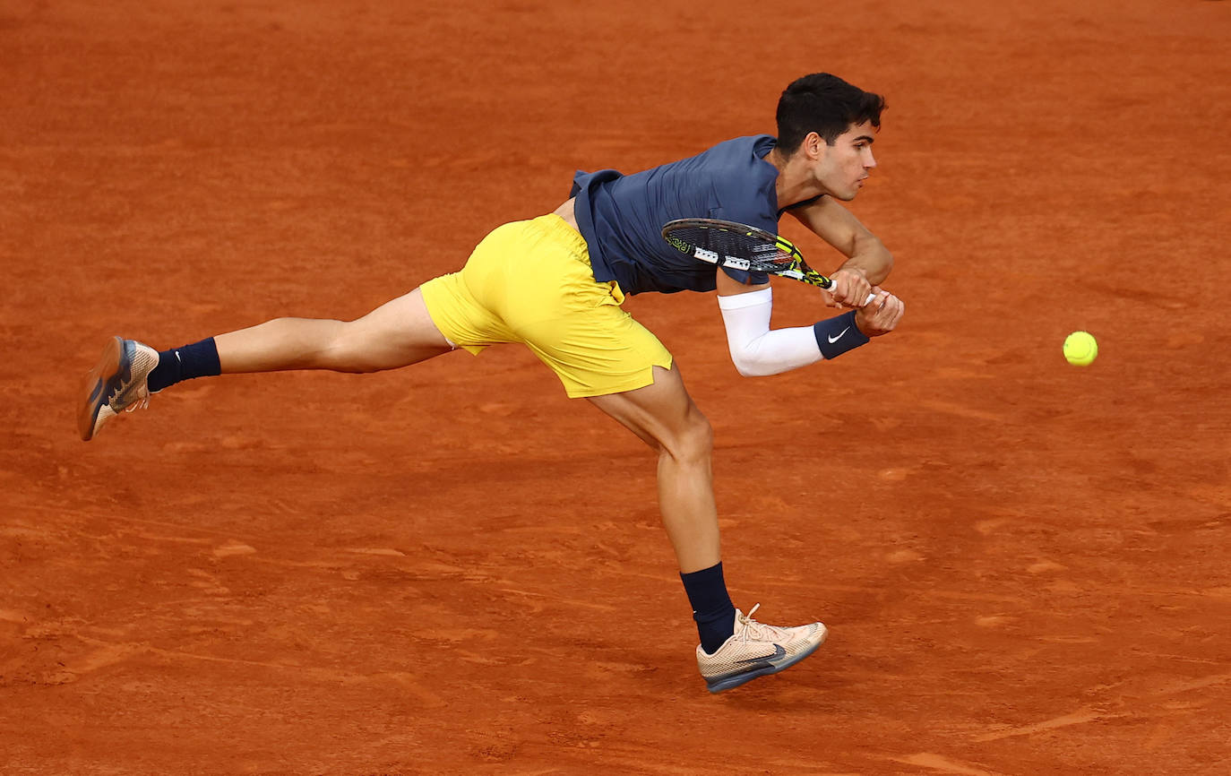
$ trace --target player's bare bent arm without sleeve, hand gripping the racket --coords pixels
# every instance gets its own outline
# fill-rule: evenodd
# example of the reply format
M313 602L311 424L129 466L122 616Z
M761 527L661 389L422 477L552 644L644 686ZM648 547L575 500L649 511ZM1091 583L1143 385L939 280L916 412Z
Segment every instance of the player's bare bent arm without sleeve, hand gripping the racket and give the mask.
M842 266L830 273L833 291L821 292L827 294L827 303L858 307L872 293L873 286L883 285L889 277L889 271L894 269L894 255L880 238L833 197L821 197L789 212L847 257Z

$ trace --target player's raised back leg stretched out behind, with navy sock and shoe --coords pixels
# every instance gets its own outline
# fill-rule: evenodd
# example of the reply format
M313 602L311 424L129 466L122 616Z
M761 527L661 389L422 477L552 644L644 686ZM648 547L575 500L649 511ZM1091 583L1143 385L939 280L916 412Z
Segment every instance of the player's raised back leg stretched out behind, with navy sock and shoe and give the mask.
M78 430L90 440L118 413L143 406L150 393L194 377L282 370L375 372L449 350L419 289L356 320L278 318L162 352L113 337L82 381Z

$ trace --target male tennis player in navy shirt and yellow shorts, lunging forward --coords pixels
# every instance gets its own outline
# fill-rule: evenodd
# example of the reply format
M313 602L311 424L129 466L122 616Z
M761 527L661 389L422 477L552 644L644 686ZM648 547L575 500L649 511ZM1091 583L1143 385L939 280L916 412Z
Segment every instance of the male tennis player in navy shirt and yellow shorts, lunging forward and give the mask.
M585 397L659 455L659 505L700 636L710 692L774 674L811 654L825 626L774 627L735 608L723 579L710 479L712 430L671 354L620 307L627 294L718 291L741 374L774 374L891 331L902 303L880 289L892 257L842 204L875 166L884 101L828 74L790 84L777 139L744 137L635 175L579 172L554 213L505 224L465 266L351 321L279 318L162 352L114 337L87 373L81 439L151 393L220 373L278 370L375 372L462 347L522 342L569 397ZM668 245L676 218L723 218L778 232L789 212L846 256L822 292L856 309L815 326L771 329L768 276L715 269ZM870 294L874 299L864 304ZM760 606L760 605L758 605Z

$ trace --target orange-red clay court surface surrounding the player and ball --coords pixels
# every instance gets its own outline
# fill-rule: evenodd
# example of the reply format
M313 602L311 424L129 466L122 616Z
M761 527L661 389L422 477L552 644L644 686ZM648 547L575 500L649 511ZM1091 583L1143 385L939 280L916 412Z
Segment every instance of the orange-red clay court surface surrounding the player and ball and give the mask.
M0 772L1227 772L1231 4L693 5L0 7ZM651 456L523 350L76 440L112 334L358 315L822 69L889 97L901 330L741 379L712 298L630 302L737 605L832 628L785 674L704 692Z

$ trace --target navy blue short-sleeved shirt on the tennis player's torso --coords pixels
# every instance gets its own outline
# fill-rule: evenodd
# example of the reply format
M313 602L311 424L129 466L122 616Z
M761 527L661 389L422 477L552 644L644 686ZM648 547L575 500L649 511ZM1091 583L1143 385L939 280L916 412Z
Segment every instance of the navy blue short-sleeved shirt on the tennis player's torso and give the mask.
M662 227L676 218L724 218L778 234L778 170L764 160L776 144L758 134L635 175L579 171L574 213L595 280L616 281L627 294L714 291L714 265L668 245ZM764 272L723 271L740 282L769 280Z

